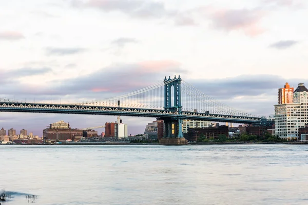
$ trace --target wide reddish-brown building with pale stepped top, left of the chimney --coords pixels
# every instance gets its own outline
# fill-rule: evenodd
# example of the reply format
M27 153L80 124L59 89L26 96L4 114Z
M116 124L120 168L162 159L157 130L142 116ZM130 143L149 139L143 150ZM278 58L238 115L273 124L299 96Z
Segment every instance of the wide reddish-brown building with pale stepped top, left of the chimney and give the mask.
M45 141L66 141L80 140L83 136L83 130L71 129L70 125L64 121L50 124L49 127L43 130L43 138ZM37 136L38 138L38 136Z

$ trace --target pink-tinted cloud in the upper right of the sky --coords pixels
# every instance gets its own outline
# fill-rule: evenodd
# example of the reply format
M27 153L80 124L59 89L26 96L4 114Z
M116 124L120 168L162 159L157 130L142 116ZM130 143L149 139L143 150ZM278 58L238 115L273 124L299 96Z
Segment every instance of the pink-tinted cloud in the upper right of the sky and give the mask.
M248 36L256 36L264 32L259 24L265 13L258 9L213 9L206 7L205 12L214 28L225 31L242 30Z

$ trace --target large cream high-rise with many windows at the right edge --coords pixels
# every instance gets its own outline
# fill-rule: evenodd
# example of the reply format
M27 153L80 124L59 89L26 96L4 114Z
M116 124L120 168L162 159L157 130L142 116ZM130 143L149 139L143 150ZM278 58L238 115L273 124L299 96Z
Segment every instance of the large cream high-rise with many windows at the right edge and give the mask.
M298 84L292 104L275 105L275 135L281 138L298 138L298 129L308 122L308 89Z

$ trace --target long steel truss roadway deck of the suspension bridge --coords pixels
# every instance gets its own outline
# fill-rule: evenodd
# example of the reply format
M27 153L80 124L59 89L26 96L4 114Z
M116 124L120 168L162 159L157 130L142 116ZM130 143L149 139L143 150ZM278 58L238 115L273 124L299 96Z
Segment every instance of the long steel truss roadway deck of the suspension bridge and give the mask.
M219 122L235 122L251 124L260 120L255 116L237 116L210 114L210 113L195 113L183 111L180 114L178 111L165 111L147 108L121 108L121 107L106 107L106 106L91 106L91 105L68 105L68 104L43 104L43 103L22 103L0 101L0 112L28 112L28 113L61 113L61 114L87 114L87 115L121 115L135 117L155 117L155 118L182 118L196 119Z

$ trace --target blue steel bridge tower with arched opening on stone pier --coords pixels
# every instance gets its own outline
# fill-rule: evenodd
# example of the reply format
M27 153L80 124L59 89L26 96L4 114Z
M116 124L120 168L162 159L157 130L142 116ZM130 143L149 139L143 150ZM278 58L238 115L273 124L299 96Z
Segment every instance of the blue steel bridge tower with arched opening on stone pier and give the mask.
M182 124L183 118L182 105L181 105L181 77L177 78L175 76L173 79L165 77L164 87L165 87L165 111L177 111L179 113L178 117L163 118L164 120L164 138L161 144L186 144L183 137ZM172 96L173 91L173 96ZM173 98L173 99L172 99ZM170 140L170 138L175 138ZM184 143L183 143L184 142Z

